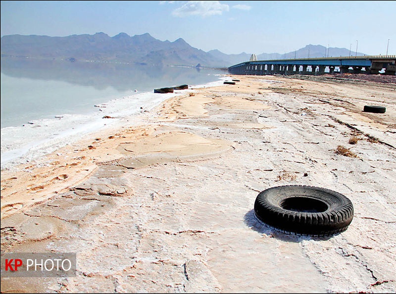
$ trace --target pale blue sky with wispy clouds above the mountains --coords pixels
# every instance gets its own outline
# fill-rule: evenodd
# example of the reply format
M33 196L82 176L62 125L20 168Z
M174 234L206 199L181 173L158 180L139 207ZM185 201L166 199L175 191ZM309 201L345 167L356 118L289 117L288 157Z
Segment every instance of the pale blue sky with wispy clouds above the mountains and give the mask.
M309 44L396 54L396 1L2 0L0 5L1 37L149 33L226 54L283 54Z

